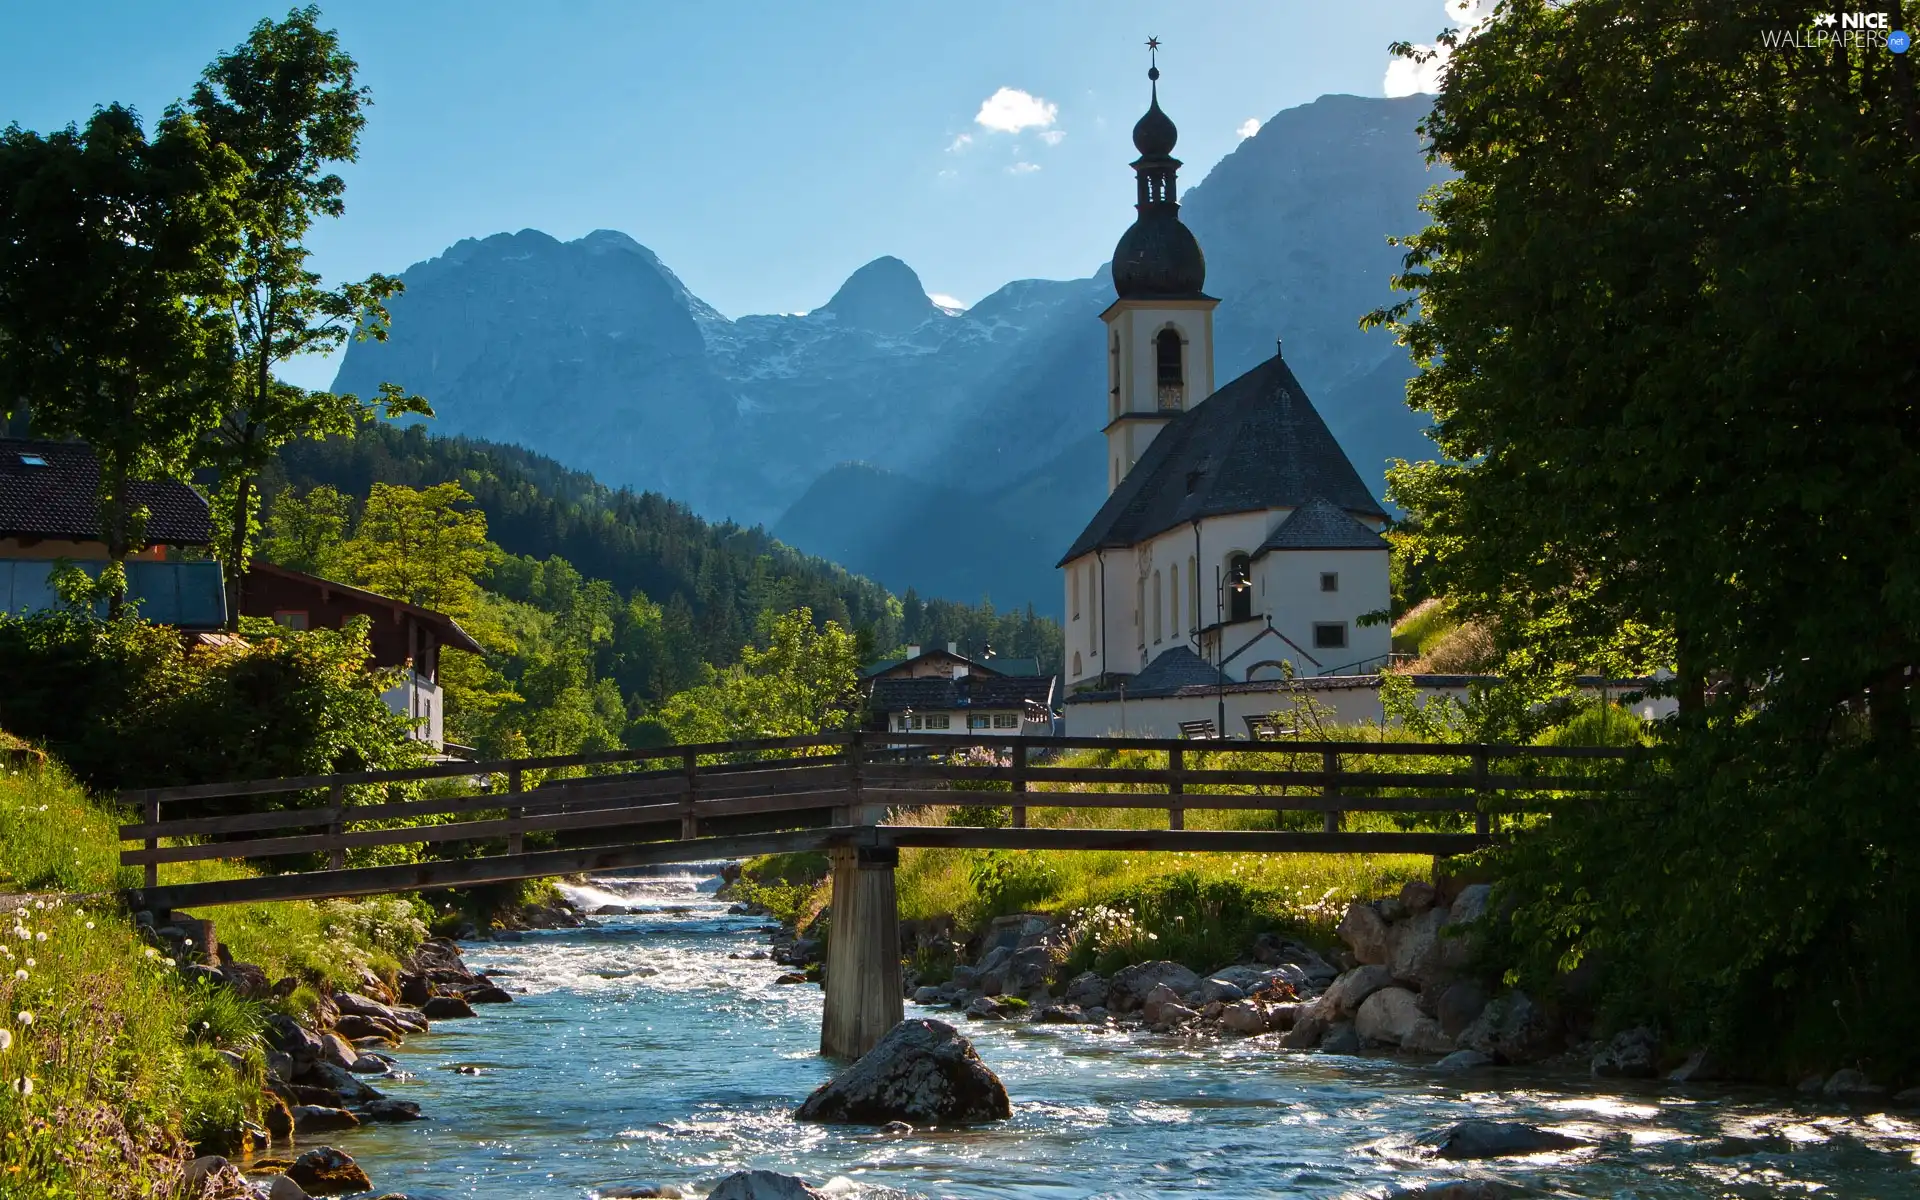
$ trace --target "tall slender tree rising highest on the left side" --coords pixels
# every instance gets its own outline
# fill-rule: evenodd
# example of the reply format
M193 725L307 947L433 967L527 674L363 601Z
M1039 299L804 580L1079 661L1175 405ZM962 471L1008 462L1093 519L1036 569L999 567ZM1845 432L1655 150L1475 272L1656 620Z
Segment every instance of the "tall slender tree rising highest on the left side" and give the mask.
M346 182L328 167L359 156L371 104L367 88L353 83L353 60L319 27L319 15L309 6L284 21L261 21L205 69L192 96L200 123L248 169L238 194L240 238L225 263L234 371L209 445L234 620L257 532L257 480L275 453L296 438L351 436L376 413L432 415L426 401L394 384L363 401L275 378L280 363L330 353L349 336L384 340L386 300L401 290L386 275L326 288L307 267L313 223L346 207Z

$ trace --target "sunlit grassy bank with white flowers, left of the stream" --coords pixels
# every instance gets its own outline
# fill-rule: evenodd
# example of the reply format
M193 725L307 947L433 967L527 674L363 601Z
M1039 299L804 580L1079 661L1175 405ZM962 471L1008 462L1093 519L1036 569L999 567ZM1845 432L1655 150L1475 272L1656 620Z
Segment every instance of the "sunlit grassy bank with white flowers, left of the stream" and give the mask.
M186 981L115 908L109 893L136 883L119 866L117 824L58 766L0 772L0 902L13 904L0 914L6 1200L171 1198L196 1146L227 1150L257 1117L267 1008ZM161 881L238 870L171 864ZM426 931L399 899L207 916L234 958L269 977L336 987L392 973ZM301 989L282 1004L311 1000Z

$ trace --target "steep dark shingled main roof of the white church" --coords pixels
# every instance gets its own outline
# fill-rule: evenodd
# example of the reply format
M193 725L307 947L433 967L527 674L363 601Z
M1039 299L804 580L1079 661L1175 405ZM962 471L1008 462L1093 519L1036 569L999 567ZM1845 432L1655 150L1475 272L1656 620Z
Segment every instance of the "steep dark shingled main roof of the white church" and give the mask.
M1315 497L1386 516L1300 380L1273 355L1169 420L1058 564L1198 516L1298 509Z

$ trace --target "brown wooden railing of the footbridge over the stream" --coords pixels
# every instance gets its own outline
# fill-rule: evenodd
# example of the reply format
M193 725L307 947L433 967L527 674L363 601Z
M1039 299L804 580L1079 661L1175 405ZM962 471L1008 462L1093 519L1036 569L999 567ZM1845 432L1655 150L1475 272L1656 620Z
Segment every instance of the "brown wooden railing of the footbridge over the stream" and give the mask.
M1087 749L1114 755L1092 764L1060 760ZM171 862L324 854L326 872L344 872L349 851L396 845L505 843L507 858L524 858L528 833L653 843L743 828L864 828L900 847L1450 854L1486 845L1498 814L1524 810L1528 797L1620 791L1630 783L1619 770L1592 766L1630 768L1642 758L1640 751L1609 747L829 733L127 791L121 799L144 820L121 826L123 841L140 843L123 851L121 862L142 866L152 889L159 866ZM582 766L628 770L526 785L536 772ZM357 793L420 780L463 780L470 791L399 801ZM324 803L165 816L167 804L288 793L321 793ZM904 816L958 806L1006 808L1008 824ZM1039 829L1029 828L1033 808L1165 810L1165 828ZM1206 810L1319 812L1323 822L1319 831L1286 831L1279 820L1275 829L1188 829L1188 816ZM889 824L889 812L902 816ZM1348 831L1346 816L1357 812L1457 820L1452 829ZM1467 820L1471 833L1459 828ZM561 858L549 852L541 862Z

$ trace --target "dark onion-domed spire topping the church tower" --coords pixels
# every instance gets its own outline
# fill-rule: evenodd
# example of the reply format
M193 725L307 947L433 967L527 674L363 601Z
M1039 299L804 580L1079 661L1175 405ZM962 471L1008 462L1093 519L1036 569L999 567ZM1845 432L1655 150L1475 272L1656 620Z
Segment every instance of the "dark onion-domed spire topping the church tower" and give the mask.
M1158 52L1160 38L1148 38ZM1206 286L1206 255L1192 230L1181 223L1179 169L1173 146L1181 131L1160 109L1160 65L1146 71L1152 102L1133 127L1135 192L1133 227L1114 248L1114 290L1121 300L1194 298Z

